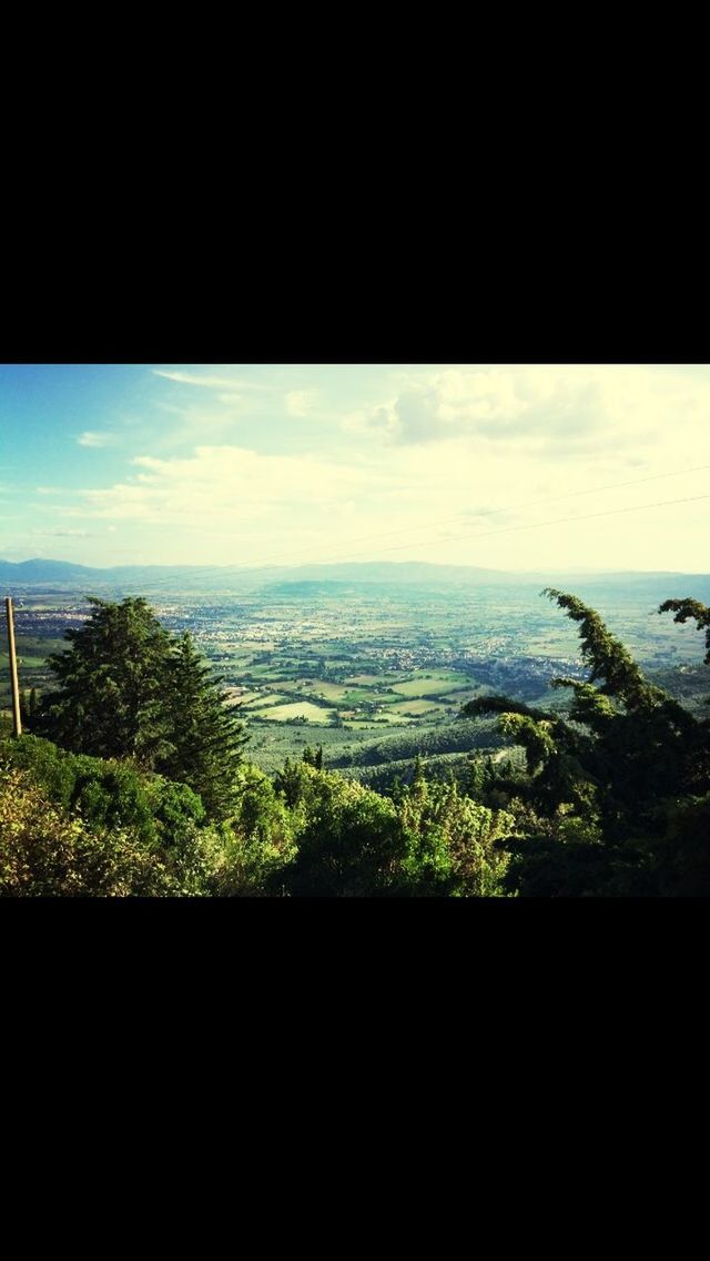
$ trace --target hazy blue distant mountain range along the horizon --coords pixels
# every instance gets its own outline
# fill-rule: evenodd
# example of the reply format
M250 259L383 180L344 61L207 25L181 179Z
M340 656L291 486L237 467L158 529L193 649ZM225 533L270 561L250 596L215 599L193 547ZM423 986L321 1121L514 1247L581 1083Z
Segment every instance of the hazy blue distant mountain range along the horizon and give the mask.
M656 588L665 585L668 596L681 589L686 595L709 594L710 575L682 574L675 571L518 571L508 572L497 569L480 569L469 565L435 565L426 561L363 561L339 565L271 565L261 569L245 569L240 565L119 565L112 569L92 569L87 565L74 565L62 560L0 560L0 585L6 594L25 586L71 586L91 594L98 589L132 591L141 588L174 591L248 591L265 586L277 586L280 590L301 584L359 584L416 585L416 586L512 586L531 584L537 586L570 584L590 588L600 584L633 584L634 588L648 584ZM294 590L295 594L295 590Z

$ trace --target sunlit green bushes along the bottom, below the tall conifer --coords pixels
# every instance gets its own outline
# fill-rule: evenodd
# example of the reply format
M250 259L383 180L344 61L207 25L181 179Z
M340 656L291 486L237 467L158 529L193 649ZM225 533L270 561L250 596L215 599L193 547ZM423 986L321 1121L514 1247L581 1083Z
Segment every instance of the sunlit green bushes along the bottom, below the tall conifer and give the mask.
M509 820L424 776L387 799L306 760L242 764L228 818L135 762L0 736L0 893L43 897L496 894Z

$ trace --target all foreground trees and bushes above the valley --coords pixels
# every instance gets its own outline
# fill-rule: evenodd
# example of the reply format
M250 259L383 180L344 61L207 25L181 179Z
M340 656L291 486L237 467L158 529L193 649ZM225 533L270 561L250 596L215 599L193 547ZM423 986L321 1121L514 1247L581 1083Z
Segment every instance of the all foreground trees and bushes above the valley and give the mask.
M566 711L472 701L464 715L493 715L508 753L451 739L425 765L383 741L383 792L324 767L320 747L275 778L250 765L189 636L144 600L93 600L52 658L58 689L26 699L32 733L0 724L0 894L709 895L709 720L644 678L593 609L547 594L588 667L554 681ZM660 612L705 632L710 663L710 610Z

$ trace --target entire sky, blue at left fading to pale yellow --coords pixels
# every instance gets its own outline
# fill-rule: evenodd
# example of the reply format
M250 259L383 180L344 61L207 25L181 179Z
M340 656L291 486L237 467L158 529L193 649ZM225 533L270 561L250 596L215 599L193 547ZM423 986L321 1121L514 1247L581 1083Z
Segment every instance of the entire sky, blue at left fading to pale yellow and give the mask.
M710 366L0 364L3 560L707 572L709 473Z

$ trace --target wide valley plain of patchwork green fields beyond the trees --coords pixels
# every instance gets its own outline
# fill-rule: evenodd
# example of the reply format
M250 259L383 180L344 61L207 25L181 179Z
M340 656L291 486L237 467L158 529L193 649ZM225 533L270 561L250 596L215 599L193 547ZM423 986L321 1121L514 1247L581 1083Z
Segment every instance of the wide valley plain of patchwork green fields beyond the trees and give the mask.
M663 668L671 692L681 689L684 704L700 707L710 685L706 667L696 666L697 633L651 617L653 604L673 590L662 584L658 600L618 591L618 599L609 594L607 609L597 593L589 599L610 614L610 629L631 648L642 641L644 661ZM150 599L150 591L140 594ZM59 636L63 625L76 627L82 599L44 593L18 612L24 691L35 686L42 696L53 686L44 656L67 647ZM300 757L306 744L322 744L325 764L339 768L370 759L406 762L417 753L460 757L482 740L492 748L501 739L497 721L463 719L468 700L496 694L564 709L569 695L550 692L549 680L579 670L576 630L537 589L399 593L392 586L348 594L338 586L298 598L267 590L238 600L226 594L209 604L199 593L174 598L161 591L154 603L172 630L195 634L223 680L227 704L240 706L247 757L270 772L285 757ZM66 610L66 622L52 610ZM678 673L686 661L697 678ZM0 702L9 704L6 652Z

